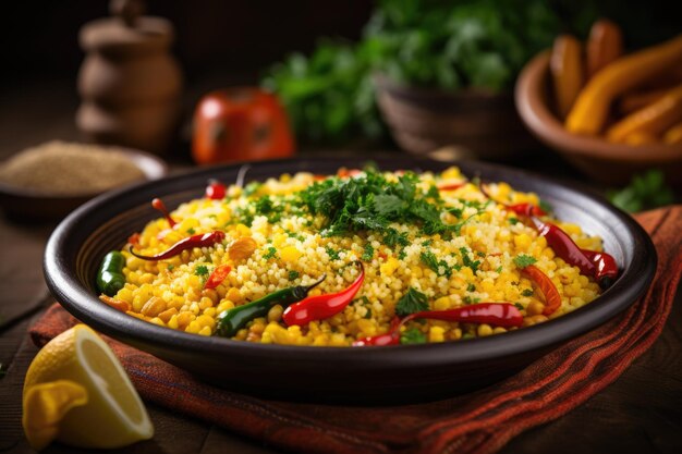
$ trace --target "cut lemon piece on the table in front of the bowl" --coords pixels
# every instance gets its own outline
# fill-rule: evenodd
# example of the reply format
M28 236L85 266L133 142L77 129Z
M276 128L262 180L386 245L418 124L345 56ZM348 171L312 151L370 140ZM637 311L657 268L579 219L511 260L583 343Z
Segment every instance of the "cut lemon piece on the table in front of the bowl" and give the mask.
M24 431L37 450L54 439L80 447L121 447L154 435L121 364L85 324L38 352L26 372L23 403Z

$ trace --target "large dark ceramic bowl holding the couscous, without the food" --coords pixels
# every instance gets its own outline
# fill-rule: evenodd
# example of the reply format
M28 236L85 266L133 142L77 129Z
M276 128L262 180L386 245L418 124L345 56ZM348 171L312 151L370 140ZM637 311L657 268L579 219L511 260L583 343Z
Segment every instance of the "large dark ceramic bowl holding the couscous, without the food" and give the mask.
M334 173L351 159L302 159L252 164L247 181L282 172ZM410 158L378 160L381 169L442 170L448 164ZM597 195L519 170L460 162L467 175L507 181L533 191L556 214L604 238L622 272L597 300L564 317L527 329L471 341L392 347L297 347L204 338L157 327L97 299L95 273L102 256L158 217L153 197L169 206L200 197L208 179L234 182L239 165L188 174L107 194L71 213L54 231L45 255L45 275L57 299L94 329L149 352L204 379L235 391L294 398L395 402L452 395L492 383L558 345L628 308L648 287L656 267L654 246L632 218Z

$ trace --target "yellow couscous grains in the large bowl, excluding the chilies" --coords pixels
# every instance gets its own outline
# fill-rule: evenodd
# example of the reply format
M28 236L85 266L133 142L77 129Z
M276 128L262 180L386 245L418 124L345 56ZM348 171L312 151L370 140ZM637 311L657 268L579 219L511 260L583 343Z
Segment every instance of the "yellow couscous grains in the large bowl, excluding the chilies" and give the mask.
M581 275L577 267L557 257L546 238L506 205L488 199L476 185L466 183L458 168L410 175L340 172L322 180L310 173L285 174L246 187L232 185L224 199L184 203L171 212L174 228L163 218L144 228L134 245L138 253L158 254L182 238L217 230L226 233L224 241L157 261L141 259L124 248L126 283L114 299L129 303L131 316L187 333L212 335L221 314L276 291L309 284L324 273L327 279L309 295L340 292L358 277L361 271L354 263L362 261L362 289L341 312L288 327L282 320L284 308L278 305L233 336L260 343L350 346L358 339L387 333L398 302L410 289L426 296L429 310L479 302L512 303L524 317L523 327L561 317L599 295L592 278ZM316 199L307 200L308 205L301 201L312 187L348 188L345 182L369 182L370 176L392 187L394 194L412 191L409 196L421 205L407 211L414 211L410 216L417 221L389 219L381 230L372 219L361 219L356 213L357 218L349 221L352 228L340 232L322 213L325 204L334 203L325 200L326 193L314 193ZM465 184L460 186L460 182ZM448 185L450 188L438 191L438 186ZM537 195L516 192L507 183L490 184L487 193L509 204L540 201ZM401 199L387 194L368 196L367 203L381 205L387 213L401 209ZM429 220L427 213L434 207L439 219ZM365 224L357 224L361 221ZM560 225L580 247L601 248L600 238L585 234L579 225ZM560 307L549 317L543 315L541 292L514 265L520 255L532 257L561 296ZM206 289L208 275L221 265L229 265L231 271L215 289ZM415 342L456 341L513 329L439 320L415 320L401 327Z

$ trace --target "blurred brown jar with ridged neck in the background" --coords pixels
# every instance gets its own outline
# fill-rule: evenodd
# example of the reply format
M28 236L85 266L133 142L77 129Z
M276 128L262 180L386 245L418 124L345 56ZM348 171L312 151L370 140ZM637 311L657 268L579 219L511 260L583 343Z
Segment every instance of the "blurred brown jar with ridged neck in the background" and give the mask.
M81 29L76 124L88 139L162 152L175 131L182 75L161 17L102 19Z

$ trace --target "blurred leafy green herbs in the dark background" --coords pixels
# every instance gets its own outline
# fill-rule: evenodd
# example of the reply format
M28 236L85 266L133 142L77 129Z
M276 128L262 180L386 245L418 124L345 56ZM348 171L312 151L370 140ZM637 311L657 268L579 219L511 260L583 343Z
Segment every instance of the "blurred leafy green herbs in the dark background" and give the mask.
M585 38L599 17L629 49L680 32L670 5L570 0L378 0L358 40L320 38L275 64L263 85L285 103L300 139L385 139L372 77L444 90L510 90L523 65L560 33Z

